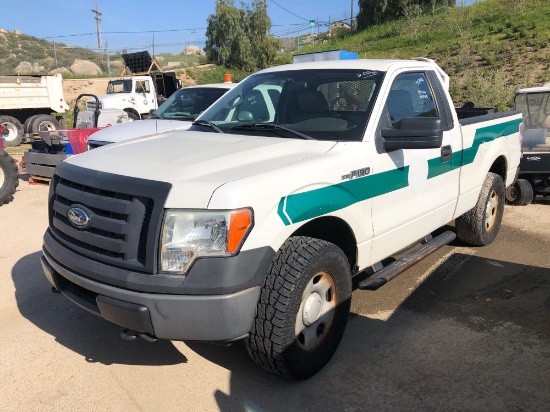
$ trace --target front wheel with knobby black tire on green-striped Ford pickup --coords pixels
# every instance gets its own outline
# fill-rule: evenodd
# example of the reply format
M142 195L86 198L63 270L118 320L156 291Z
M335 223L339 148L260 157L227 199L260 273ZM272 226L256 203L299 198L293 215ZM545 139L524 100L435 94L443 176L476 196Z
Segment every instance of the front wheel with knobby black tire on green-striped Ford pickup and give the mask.
M340 248L292 237L277 252L246 347L261 367L290 379L319 372L336 351L351 305L351 272Z

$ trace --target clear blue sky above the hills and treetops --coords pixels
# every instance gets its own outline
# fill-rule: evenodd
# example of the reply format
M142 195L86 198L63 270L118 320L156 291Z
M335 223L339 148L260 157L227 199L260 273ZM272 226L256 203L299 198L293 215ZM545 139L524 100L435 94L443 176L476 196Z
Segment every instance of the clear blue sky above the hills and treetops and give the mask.
M348 20L359 11L358 0L266 0L275 37L317 31L320 23ZM475 0L467 0L471 3ZM110 52L149 50L178 54L188 45L205 45L206 19L215 0L1 0L0 28L47 38L56 43L97 50L96 9L100 43ZM251 0L245 0L250 3ZM239 5L239 1L235 2ZM460 4L460 1L459 1ZM319 30L326 31L326 26Z

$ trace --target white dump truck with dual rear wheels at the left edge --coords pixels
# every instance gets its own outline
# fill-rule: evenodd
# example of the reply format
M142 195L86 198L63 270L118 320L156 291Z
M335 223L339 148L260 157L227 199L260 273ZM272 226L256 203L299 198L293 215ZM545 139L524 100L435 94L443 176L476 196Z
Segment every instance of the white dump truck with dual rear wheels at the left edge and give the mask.
M25 133L57 130L58 118L69 109L63 97L63 78L0 76L0 124L6 147L21 143Z

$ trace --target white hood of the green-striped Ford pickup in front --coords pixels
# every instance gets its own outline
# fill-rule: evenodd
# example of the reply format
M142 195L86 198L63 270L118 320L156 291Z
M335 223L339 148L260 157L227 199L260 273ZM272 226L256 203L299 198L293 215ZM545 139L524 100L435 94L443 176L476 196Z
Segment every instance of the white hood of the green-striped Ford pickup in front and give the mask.
M147 123L148 121L144 121ZM137 122L135 122L137 123ZM122 127L114 126L115 128ZM206 208L224 183L320 156L336 143L195 131L171 131L103 146L66 162L172 184L182 208Z

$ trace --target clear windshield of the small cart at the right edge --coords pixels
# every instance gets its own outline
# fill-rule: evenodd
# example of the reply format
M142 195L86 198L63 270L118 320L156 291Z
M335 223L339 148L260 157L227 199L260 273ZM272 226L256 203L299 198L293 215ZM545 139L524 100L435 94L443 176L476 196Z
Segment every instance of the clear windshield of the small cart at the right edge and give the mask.
M550 92L519 93L514 100L523 115L523 151L550 151Z

